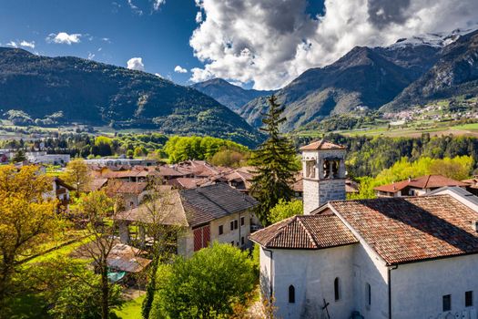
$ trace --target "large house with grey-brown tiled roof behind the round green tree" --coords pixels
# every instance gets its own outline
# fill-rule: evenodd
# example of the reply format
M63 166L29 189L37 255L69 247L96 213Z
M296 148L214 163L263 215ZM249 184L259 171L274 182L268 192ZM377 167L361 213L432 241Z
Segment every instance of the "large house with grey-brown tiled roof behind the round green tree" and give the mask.
M240 248L250 247L249 234L254 216L251 209L257 201L225 183L191 190L171 190L171 208L162 211L160 223L182 227L178 233L179 255L190 256L211 242L230 243ZM129 225L137 223L139 242L147 245L147 223L151 210L147 204L126 210L116 216L121 242L130 243Z

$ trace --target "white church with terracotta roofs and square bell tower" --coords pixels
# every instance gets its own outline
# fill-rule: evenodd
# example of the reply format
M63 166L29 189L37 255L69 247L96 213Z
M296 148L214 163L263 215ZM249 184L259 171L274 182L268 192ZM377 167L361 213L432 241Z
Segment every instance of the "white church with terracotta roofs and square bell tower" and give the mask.
M253 233L290 318L478 319L478 212L450 194L345 201L345 149L302 149L304 215Z

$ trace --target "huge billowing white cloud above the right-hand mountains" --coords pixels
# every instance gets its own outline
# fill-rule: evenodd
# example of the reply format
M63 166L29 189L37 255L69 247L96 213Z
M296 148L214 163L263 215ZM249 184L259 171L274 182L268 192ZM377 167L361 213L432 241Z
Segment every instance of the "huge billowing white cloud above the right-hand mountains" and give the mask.
M224 77L254 88L283 87L310 67L323 67L353 46L386 46L402 37L468 27L476 0L196 0L201 23L189 45L205 63L191 80Z

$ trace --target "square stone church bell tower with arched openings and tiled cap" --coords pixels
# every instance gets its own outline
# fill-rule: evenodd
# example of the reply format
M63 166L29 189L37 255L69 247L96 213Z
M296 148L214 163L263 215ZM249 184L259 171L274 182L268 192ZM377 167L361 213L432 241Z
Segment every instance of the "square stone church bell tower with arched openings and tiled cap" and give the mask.
M345 200L345 147L319 140L300 150L304 214L328 201Z

